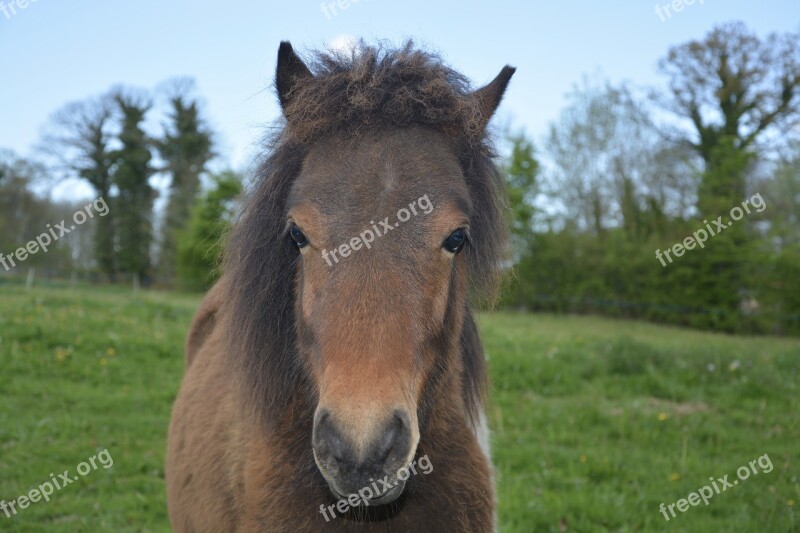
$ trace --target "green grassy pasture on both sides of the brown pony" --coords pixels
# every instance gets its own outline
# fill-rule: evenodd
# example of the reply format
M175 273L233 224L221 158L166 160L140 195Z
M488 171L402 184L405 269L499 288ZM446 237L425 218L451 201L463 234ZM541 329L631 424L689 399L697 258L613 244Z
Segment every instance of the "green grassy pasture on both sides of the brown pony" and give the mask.
M103 449L114 460L0 513L0 530L169 530L166 430L198 302L0 285L0 500ZM800 531L800 341L587 317L479 322L501 531ZM669 522L659 511L765 454L770 472L707 506Z

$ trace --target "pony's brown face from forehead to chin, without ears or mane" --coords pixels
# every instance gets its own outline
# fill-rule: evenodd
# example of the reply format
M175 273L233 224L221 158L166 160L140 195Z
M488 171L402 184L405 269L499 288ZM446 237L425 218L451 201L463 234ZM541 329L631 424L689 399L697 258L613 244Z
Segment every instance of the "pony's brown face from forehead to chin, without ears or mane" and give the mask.
M289 196L314 457L338 497L384 477L373 503L402 493L422 392L460 335L472 213L451 144L421 127L328 138Z

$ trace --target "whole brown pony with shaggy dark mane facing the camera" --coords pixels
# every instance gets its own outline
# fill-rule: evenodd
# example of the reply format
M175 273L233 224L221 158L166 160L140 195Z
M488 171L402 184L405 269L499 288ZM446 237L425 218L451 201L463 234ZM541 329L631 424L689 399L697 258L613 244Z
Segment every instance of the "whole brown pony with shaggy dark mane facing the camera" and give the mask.
M513 73L281 44L285 123L187 341L175 530L494 529L468 295L505 253L486 126Z

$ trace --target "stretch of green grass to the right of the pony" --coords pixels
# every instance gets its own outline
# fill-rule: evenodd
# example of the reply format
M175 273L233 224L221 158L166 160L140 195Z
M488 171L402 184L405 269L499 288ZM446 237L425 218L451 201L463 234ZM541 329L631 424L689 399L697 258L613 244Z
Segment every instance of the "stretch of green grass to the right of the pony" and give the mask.
M797 340L586 317L480 325L502 530L800 531ZM770 473L669 523L659 512L764 454Z

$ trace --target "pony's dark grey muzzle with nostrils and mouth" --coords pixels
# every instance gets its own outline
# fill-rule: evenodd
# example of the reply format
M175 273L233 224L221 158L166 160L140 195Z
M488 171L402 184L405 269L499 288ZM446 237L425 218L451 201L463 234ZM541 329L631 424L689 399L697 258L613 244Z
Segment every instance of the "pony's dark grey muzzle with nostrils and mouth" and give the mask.
M313 447L317 466L337 498L364 494L371 490L371 504L397 499L404 482L397 472L411 460L414 442L411 421L402 409L396 409L371 434L351 435L324 408L314 418Z

